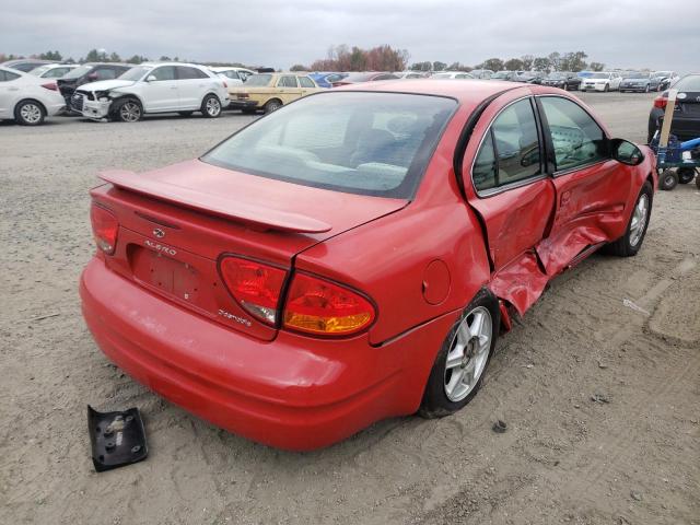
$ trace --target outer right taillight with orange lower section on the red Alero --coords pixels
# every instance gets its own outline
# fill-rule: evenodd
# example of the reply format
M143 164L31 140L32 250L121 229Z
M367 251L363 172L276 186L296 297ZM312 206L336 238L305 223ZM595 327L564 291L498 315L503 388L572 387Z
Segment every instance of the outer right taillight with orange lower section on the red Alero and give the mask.
M355 334L372 324L374 306L359 293L296 273L284 305L284 327L317 335Z

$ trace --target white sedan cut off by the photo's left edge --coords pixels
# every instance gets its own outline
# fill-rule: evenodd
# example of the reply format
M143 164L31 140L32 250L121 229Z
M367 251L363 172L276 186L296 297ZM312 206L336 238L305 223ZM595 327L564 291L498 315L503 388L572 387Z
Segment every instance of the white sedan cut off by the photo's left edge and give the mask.
M0 120L36 126L65 106L56 82L0 67Z

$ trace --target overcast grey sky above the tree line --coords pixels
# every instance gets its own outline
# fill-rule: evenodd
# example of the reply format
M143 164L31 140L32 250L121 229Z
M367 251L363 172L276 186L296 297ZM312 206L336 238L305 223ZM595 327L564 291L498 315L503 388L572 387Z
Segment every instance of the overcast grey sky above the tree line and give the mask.
M698 0L0 0L0 52L15 55L104 48L289 68L331 45L389 44L411 62L584 50L608 67L700 70Z

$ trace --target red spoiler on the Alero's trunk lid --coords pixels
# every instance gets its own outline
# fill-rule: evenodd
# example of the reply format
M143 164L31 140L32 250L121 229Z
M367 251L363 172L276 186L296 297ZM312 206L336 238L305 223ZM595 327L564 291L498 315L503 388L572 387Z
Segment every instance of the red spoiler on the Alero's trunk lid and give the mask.
M100 173L97 176L119 189L126 189L223 219L243 222L255 230L323 233L332 228L330 224L311 217L250 205L235 200L232 197L197 191L196 189L168 184L164 180L124 170L109 170Z

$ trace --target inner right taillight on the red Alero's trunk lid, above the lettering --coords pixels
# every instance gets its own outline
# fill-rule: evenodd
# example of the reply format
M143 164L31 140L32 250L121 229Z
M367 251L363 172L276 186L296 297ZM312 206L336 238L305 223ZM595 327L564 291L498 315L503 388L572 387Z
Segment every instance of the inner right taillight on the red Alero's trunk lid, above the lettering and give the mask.
M224 257L219 268L226 288L246 312L270 325L277 323L287 271L241 257Z

